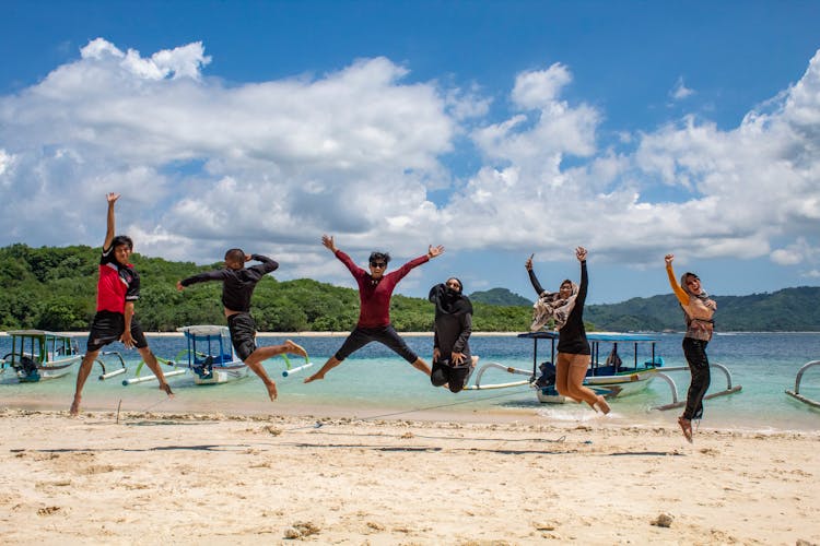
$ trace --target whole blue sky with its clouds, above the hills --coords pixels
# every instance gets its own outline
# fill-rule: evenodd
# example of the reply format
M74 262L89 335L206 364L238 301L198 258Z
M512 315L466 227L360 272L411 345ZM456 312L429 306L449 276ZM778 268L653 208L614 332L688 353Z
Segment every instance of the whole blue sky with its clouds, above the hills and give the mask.
M820 280L820 3L0 0L0 246L267 253L589 302Z

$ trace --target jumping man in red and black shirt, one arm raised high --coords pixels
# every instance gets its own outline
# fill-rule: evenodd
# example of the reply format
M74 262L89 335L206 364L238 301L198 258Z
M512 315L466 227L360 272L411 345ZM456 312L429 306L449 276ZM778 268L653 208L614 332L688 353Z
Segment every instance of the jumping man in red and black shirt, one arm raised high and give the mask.
M99 258L97 312L91 323L85 356L80 365L80 371L77 372L77 391L74 401L71 403L71 415L80 412L83 385L89 379L91 367L99 349L115 341L121 341L128 348L137 347L142 359L160 380L160 389L168 396L174 395L165 381L156 357L148 346L140 323L133 316L133 302L140 297L140 276L133 270L133 265L128 263L128 258L133 251L133 241L125 235L114 236L116 226L114 203L119 199L119 193L108 193L106 199L108 200L108 216L103 256Z

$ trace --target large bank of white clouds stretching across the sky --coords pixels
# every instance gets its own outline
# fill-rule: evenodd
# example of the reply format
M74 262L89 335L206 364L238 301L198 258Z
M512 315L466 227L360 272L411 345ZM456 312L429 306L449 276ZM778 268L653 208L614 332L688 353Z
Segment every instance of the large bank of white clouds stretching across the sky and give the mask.
M519 73L499 115L480 85L412 81L384 57L229 86L204 72L201 43L142 56L98 38L0 96L0 242L98 245L104 194L118 191L141 252L276 251L295 276L323 263L323 233L396 256L452 241L542 258L585 245L634 265L667 251L810 262L819 59L737 127L686 115L620 132L616 152L599 142L606 112L569 93L562 63ZM469 170L447 166L466 140ZM9 213L31 207L49 222Z

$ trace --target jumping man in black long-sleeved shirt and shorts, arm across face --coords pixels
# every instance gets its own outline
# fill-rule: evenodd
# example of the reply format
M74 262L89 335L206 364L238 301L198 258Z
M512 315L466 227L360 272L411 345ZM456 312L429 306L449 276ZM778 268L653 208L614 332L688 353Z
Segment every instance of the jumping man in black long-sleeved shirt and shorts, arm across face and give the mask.
M245 268L245 262L250 260L261 262L261 264ZM247 256L241 249L233 248L225 252L224 269L199 273L176 284L177 289L181 290L196 283L222 282L222 305L225 307L227 328L231 331L231 341L236 355L259 376L268 389L270 400L277 397L277 383L268 377L261 363L283 353L307 356L305 349L291 340L286 340L281 345L256 346L256 321L250 316L250 296L254 294L256 283L278 268L279 263L266 256Z

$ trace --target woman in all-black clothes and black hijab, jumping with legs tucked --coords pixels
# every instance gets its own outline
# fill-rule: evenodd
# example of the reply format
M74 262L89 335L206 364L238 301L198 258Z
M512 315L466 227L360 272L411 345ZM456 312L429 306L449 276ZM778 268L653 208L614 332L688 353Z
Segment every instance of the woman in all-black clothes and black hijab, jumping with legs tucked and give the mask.
M461 281L450 277L445 284L430 289L430 301L435 304L435 335L433 339L433 373L430 381L452 392L465 388L478 361L470 354L472 304L461 294Z

